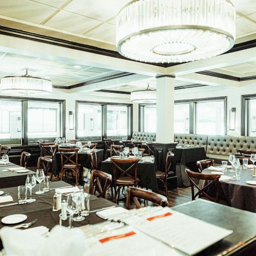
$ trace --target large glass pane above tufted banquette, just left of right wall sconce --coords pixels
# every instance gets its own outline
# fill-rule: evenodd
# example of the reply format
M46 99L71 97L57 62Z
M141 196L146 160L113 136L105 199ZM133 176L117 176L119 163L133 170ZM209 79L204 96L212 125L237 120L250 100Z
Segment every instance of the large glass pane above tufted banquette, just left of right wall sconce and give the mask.
M225 134L224 100L196 103L196 134Z

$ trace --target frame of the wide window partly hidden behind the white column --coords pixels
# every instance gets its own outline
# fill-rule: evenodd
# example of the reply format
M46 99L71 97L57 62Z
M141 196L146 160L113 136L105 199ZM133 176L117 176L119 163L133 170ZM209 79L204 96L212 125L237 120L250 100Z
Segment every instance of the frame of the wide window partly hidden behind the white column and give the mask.
M256 97L256 94L255 94ZM174 104L189 103L189 134L195 134L196 131L196 104L205 101L224 101L224 135L227 135L227 96L212 97L212 98L199 98L187 100L175 100ZM143 106L156 105L151 103L139 104L139 132L143 132Z

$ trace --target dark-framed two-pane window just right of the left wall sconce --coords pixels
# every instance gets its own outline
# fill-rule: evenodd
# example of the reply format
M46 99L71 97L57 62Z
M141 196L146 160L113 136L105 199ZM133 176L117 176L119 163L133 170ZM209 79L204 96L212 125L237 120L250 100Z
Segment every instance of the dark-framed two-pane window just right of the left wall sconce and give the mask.
M80 140L129 138L132 105L77 101L76 120L76 137Z

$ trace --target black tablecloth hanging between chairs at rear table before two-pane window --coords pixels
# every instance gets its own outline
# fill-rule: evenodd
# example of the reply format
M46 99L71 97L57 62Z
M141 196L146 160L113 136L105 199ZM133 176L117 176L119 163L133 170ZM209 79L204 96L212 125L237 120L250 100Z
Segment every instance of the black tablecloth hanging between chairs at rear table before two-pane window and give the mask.
M98 162L98 169L100 168L101 162L104 160L104 150L97 150L97 162ZM90 161L90 155L84 152L78 152L78 163L82 165L82 167L86 167L90 169L92 167ZM61 170L61 159L60 153L55 154L55 160L53 163L52 173L53 175L57 176Z

